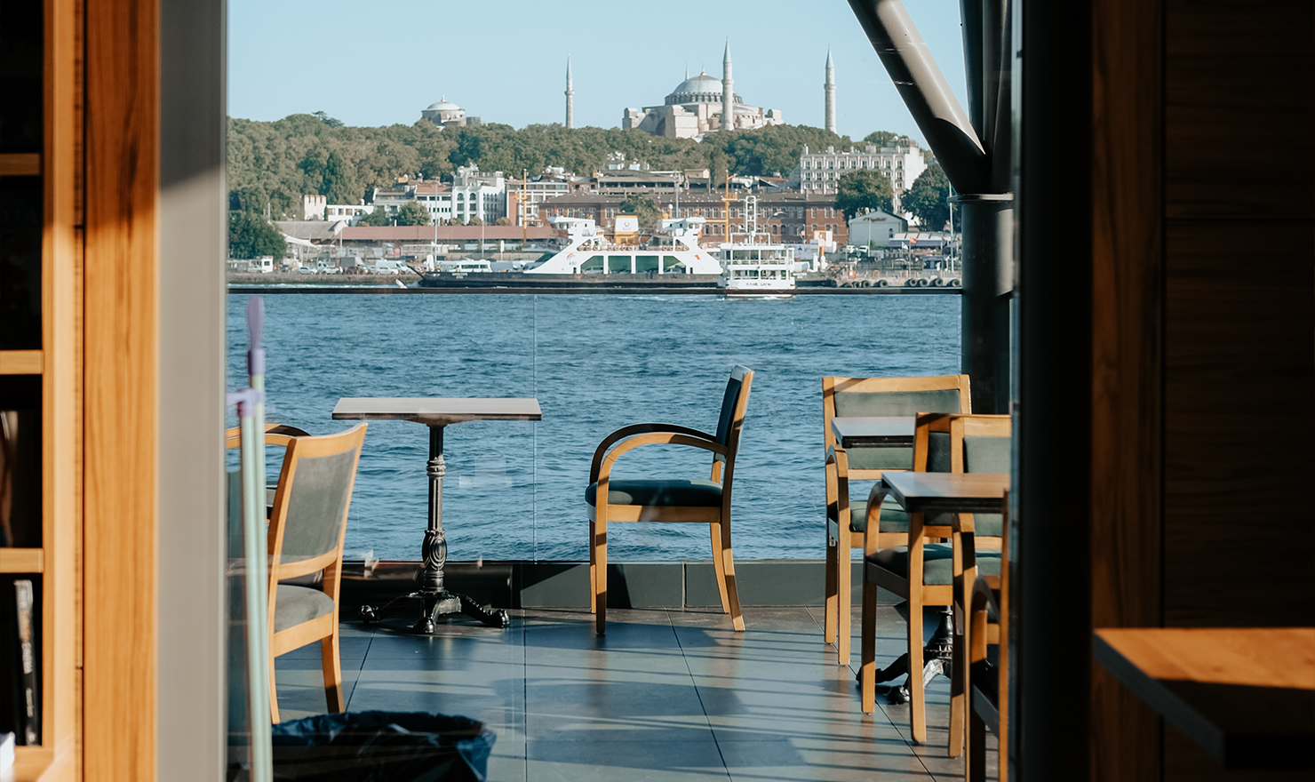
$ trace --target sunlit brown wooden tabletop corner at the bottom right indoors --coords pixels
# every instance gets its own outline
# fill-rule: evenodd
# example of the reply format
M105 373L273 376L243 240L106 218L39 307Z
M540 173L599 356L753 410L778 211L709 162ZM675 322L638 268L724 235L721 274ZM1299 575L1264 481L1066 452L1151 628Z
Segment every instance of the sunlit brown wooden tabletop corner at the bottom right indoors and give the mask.
M1315 627L1109 628L1097 662L1230 769L1315 769Z

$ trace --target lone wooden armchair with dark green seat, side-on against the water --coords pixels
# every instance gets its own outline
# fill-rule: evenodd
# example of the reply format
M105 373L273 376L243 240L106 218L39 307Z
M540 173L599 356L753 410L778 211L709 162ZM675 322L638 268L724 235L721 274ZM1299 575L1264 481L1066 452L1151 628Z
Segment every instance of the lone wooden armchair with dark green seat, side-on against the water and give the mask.
M608 435L594 451L589 468L589 589L596 632L608 628L608 523L609 522L693 522L706 523L711 531L713 568L722 597L722 611L731 615L735 630L744 630L739 594L735 589L735 561L731 557L731 484L735 477L735 455L753 372L747 367L731 369L717 434L669 423L638 423ZM689 446L711 451L711 477L706 481L679 478L613 480L617 459L639 446ZM615 447L614 447L615 446ZM597 497L602 502L596 502Z

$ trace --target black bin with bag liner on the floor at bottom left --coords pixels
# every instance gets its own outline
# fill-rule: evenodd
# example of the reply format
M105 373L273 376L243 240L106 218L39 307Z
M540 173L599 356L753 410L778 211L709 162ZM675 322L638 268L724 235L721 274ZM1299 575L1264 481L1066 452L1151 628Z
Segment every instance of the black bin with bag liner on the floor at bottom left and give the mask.
M276 782L484 782L493 731L464 716L362 711L274 725ZM230 774L247 779L247 770Z

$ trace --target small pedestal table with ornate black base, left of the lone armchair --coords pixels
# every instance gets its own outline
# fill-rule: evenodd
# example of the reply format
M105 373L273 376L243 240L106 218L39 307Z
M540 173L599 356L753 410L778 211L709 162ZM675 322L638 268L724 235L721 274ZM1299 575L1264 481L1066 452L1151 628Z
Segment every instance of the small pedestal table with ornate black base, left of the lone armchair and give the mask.
M343 397L333 409L335 421L413 421L429 427L429 526L421 556L425 569L419 589L389 601L383 607L363 606L362 618L377 622L398 611L406 602L421 605L416 632L434 632L434 623L447 614L462 612L490 627L506 627L509 618L500 609L485 609L464 594L447 591L443 565L447 563L447 538L443 534L443 428L467 421L540 421L538 400L517 398L438 398L438 397Z

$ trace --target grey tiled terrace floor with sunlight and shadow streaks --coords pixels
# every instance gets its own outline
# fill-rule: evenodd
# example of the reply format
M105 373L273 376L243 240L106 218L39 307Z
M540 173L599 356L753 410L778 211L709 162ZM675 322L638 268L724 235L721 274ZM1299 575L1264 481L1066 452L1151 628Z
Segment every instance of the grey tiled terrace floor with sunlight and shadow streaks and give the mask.
M857 637L851 666L836 665L821 607L744 618L736 633L722 614L610 610L601 639L576 611L514 611L506 630L459 619L433 637L345 623L343 691L351 711L485 722L490 782L963 778L945 757L945 679L928 693L928 744L915 745L907 706L859 710ZM902 645L903 622L882 606L878 665ZM317 644L276 672L283 719L325 710Z

